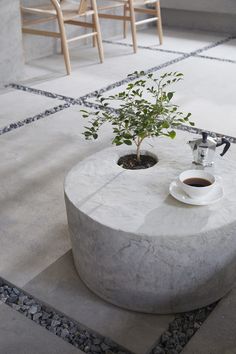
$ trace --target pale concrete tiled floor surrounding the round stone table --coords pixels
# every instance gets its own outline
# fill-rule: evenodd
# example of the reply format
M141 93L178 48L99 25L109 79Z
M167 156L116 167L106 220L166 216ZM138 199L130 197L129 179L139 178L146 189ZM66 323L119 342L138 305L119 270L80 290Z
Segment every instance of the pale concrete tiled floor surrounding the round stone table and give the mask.
M133 54L129 37L106 41L103 64L98 62L96 49L73 49L69 77L59 54L34 60L25 66L21 82L0 92L0 275L134 353L144 354L150 352L173 316L138 314L107 304L83 285L73 266L64 178L78 161L109 146L112 138L110 127L105 126L98 140L85 141L80 109L86 102L94 102L95 91L109 95L124 88L127 75L135 70L157 76L180 71L185 78L176 86L176 103L192 113L197 128L235 141L236 41L230 34L165 29L160 46L150 28L138 34L138 43L138 53ZM230 312L227 301L218 312ZM1 316L13 331L12 314L3 306ZM219 312L218 317L221 315ZM231 315L227 326L234 320ZM14 322L15 336L19 321L17 317ZM22 319L22 326L24 321L28 320ZM184 352L223 354L236 345L227 331L215 338L212 328L207 332L209 350L204 351L201 340L195 340ZM213 349L209 336L214 338ZM0 344L7 348L12 340L1 328ZM57 341L52 342L55 350ZM17 346L14 348L0 352L18 353ZM37 354L36 349L26 352Z

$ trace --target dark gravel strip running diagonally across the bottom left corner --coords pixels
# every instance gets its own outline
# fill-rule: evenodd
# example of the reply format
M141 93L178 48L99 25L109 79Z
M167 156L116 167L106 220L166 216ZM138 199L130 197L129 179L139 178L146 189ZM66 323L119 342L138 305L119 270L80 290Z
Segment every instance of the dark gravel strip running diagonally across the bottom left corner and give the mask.
M0 278L0 303L5 303L25 317L87 354L132 354L127 349L84 327L33 296Z

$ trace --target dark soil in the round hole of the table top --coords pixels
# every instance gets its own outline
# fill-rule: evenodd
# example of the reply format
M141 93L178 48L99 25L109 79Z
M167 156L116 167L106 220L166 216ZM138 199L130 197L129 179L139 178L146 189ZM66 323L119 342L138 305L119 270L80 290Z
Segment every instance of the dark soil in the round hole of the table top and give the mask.
M149 155L141 155L141 161L137 160L135 154L122 156L117 164L127 170L142 170L154 166L157 160Z

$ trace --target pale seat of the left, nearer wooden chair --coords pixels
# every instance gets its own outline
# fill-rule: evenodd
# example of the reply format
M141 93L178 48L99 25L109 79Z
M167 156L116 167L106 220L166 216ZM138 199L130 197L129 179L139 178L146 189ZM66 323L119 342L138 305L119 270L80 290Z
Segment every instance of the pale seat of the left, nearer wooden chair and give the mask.
M64 0L60 3L60 7L63 13L63 18L64 21L69 21L72 19L75 19L76 17L79 16L88 16L88 15L93 15L94 11L93 10L86 10L86 11L80 11L79 12L79 6L78 3L74 3L72 1L67 1ZM26 6L22 6L21 7L22 11L25 13L31 13L34 15L50 15L50 16L55 16L55 18L57 17L57 12L55 10L55 8L53 7L53 5L49 4L49 5L39 5L39 6L30 6L30 7L26 7ZM81 9L83 10L83 9Z

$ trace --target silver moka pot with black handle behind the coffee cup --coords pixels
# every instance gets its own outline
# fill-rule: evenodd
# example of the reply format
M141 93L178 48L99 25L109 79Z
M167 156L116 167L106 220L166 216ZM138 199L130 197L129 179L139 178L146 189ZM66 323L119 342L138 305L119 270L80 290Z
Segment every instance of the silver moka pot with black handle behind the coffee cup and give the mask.
M202 138L188 142L193 152L193 163L202 166L212 166L215 150L218 146L225 145L220 156L223 156L230 147L230 142L225 138L213 139L206 132L202 132Z

